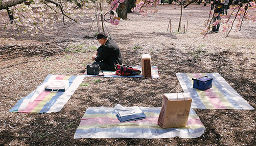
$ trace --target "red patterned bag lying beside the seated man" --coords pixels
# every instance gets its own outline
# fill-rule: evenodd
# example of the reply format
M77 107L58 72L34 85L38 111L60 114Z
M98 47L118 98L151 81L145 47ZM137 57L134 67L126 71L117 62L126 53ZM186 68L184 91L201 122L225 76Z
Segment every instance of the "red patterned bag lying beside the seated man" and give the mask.
M129 66L115 64L116 74L122 76L138 75L141 73L140 70L134 69Z

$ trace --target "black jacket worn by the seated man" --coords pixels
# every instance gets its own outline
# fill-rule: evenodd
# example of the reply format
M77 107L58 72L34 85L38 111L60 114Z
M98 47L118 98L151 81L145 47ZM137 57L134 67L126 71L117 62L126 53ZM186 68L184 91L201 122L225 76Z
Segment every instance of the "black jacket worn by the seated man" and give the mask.
M115 71L114 64L122 64L120 50L111 38L106 41L105 45L101 45L97 49L97 52L95 61L104 62L104 64L107 64L106 66L108 66L105 69L103 67L103 70Z

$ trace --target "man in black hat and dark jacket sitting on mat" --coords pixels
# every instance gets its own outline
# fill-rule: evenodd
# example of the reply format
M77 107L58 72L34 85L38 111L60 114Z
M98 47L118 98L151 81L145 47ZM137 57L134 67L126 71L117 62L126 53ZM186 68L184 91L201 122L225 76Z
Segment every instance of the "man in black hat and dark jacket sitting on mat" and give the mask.
M111 38L108 38L105 32L100 32L96 39L101 46L92 55L93 64L98 64L101 70L116 71L114 64L122 64L121 54L117 44Z

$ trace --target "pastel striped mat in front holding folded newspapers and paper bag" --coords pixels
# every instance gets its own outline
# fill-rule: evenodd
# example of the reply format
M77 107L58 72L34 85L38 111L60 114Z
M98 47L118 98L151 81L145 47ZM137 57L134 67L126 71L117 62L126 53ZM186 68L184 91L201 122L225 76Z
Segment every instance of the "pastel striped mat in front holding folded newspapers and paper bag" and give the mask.
M186 127L166 129L157 124L161 108L140 107L146 115L145 119L122 123L116 118L117 109L127 108L121 105L114 108L88 108L74 138L196 138L205 131L204 125L192 109Z

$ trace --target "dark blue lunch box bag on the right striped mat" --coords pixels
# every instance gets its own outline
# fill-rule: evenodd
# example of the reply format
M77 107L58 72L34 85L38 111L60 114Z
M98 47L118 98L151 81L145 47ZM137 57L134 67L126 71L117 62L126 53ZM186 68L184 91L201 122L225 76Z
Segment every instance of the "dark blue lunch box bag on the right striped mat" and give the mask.
M193 88L205 91L212 87L212 78L208 76L200 77L200 78L192 78Z

